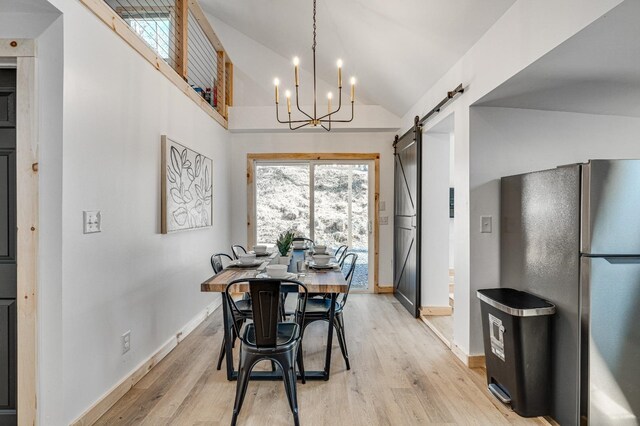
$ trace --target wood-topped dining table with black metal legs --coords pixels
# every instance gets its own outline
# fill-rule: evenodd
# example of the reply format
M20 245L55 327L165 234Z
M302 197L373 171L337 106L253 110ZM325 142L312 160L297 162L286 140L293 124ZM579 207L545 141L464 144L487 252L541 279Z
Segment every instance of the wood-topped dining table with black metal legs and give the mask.
M294 249L288 266L288 272L295 274L292 279L298 280L307 287L309 293L324 293L331 299L329 308L329 321L327 330L327 347L325 353L324 368L322 370L306 371L306 380L329 380L331 371L331 346L333 344L333 319L335 316L336 299L340 293L347 291L347 281L339 267L331 269L314 269L308 265L310 253L308 249ZM225 333L225 361L227 380L237 380L238 370L235 369L233 360L233 324L230 312L230 302L227 299L227 285L241 278L256 278L262 274L269 264L279 261L278 253L270 253L268 256L258 257L263 260L259 265L243 267L238 263L233 263L227 268L212 276L200 285L202 292L220 293L222 296L222 316ZM335 262L335 259L332 259ZM257 262L256 262L257 263ZM299 291L297 285L282 285L284 293L296 293ZM249 283L237 283L230 289L230 293L249 292ZM298 372L298 378L301 378ZM252 380L282 380L282 372L278 371L252 371Z

